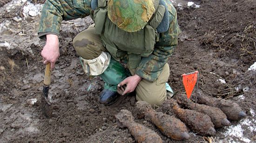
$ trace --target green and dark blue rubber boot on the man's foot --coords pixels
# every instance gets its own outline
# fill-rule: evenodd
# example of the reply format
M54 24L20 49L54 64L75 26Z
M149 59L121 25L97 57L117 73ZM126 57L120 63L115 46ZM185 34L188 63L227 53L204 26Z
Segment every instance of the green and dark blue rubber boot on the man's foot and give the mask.
M128 75L128 71L121 65L121 63L110 60L108 68L100 75L101 79L105 81L104 90L101 92L100 103L109 106L120 97L116 92L117 85L123 81Z

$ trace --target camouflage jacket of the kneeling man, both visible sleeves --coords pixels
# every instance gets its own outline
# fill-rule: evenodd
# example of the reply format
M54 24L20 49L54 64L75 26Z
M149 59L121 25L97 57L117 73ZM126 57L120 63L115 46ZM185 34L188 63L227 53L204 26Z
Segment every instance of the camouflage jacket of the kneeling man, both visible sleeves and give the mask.
M170 24L168 31L160 33L159 42L156 42L154 51L148 57L142 57L135 74L148 81L155 81L162 68L168 61L178 43L180 29L177 23L177 14L169 0L168 5ZM38 36L44 38L47 34L60 34L62 20L84 18L91 15L91 0L47 0L42 8Z

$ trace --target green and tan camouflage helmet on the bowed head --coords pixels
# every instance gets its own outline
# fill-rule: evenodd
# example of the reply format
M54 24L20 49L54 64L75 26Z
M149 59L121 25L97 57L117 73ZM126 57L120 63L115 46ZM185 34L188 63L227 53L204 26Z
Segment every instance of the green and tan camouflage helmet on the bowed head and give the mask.
M141 30L154 11L153 0L108 0L108 18L128 32Z

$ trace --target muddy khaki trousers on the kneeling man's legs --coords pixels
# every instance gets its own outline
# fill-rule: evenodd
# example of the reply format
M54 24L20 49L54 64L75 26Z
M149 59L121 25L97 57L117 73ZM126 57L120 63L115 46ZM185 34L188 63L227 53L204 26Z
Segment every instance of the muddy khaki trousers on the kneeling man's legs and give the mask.
M101 55L102 51L107 51L101 42L100 35L94 33L94 25L87 30L80 32L73 40L73 46L79 56L84 59L94 59ZM135 74L135 69L129 69L131 75ZM166 99L167 91L165 83L169 77L169 65L166 63L154 82L142 79L137 85L136 99L147 101L151 105L160 106Z

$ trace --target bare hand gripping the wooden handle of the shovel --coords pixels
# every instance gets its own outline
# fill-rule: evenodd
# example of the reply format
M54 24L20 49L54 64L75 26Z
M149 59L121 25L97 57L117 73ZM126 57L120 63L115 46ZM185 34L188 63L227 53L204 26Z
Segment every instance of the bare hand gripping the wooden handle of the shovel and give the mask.
M59 37L54 34L47 34L46 38L47 41L41 52L41 56L43 57L44 64L51 63L51 70L53 70L55 62L60 57Z

